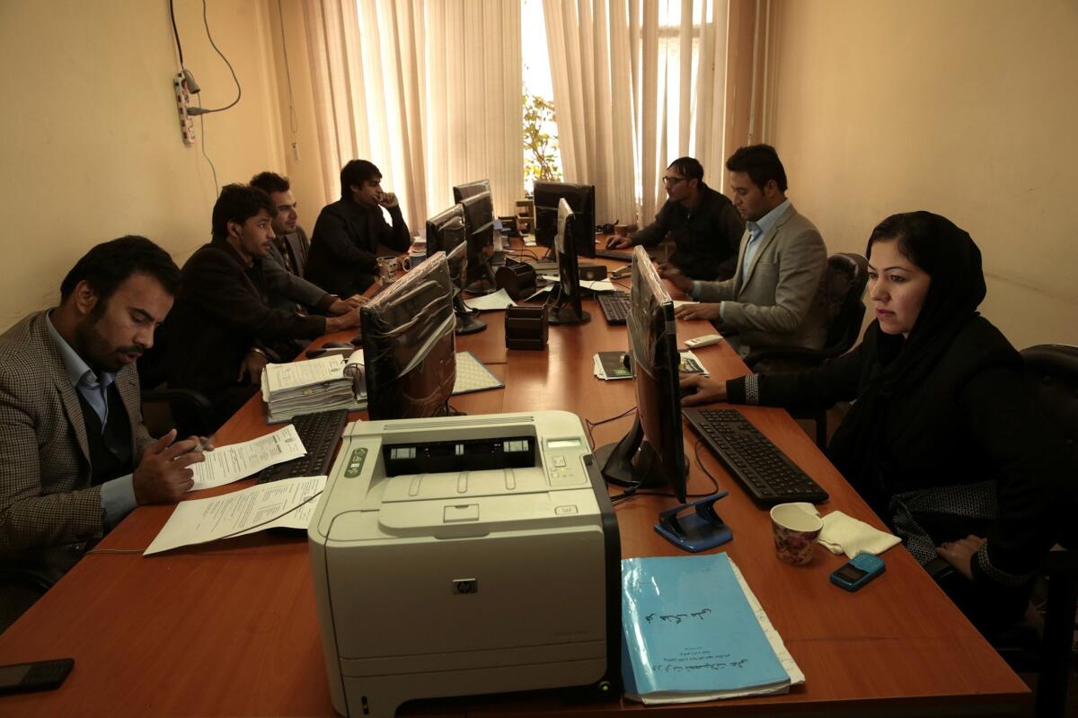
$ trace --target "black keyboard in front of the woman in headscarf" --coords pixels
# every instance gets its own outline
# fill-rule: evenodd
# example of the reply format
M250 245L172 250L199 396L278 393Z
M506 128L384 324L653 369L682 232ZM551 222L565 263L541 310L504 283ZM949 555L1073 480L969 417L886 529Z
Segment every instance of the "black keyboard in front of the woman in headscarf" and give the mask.
M740 411L682 409L681 413L756 503L827 501L827 492Z

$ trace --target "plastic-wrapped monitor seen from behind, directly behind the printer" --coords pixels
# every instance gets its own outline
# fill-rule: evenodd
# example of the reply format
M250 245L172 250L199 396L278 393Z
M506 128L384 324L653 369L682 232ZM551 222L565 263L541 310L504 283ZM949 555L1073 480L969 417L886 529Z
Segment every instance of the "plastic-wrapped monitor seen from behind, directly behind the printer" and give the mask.
M448 412L457 378L453 284L438 252L360 308L371 419Z

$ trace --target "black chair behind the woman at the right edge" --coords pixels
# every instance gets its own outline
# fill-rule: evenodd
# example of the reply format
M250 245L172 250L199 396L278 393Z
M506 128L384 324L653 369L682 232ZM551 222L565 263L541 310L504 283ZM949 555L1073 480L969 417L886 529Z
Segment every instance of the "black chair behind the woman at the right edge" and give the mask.
M1063 434L1072 466L1078 465L1078 347L1039 344L1022 350L1026 385L1049 421ZM1069 477L1078 481L1078 477ZM1067 677L1073 663L1075 610L1078 609L1078 526L1061 526L1064 550L1052 551L1041 566L1048 590L1045 627L1037 647L1036 715L1066 715ZM1005 650L1000 653L1007 657Z

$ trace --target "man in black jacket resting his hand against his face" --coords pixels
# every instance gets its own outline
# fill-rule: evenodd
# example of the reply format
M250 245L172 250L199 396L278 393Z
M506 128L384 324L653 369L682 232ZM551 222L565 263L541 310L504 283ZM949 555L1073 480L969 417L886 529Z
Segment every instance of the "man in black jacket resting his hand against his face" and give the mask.
M388 210L390 226L382 213ZM307 280L342 297L363 292L378 274L378 244L404 252L411 243L397 195L382 191L382 172L365 159L341 170L341 199L315 223Z

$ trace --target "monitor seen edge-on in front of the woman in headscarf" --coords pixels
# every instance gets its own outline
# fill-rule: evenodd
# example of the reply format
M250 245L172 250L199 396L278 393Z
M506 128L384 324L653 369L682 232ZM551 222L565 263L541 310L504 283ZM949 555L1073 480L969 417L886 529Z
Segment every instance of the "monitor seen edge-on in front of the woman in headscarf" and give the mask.
M634 249L633 255L633 304L626 324L636 421L620 442L600 447L595 455L608 481L634 488L666 485L683 504L688 466L674 302L644 248Z

